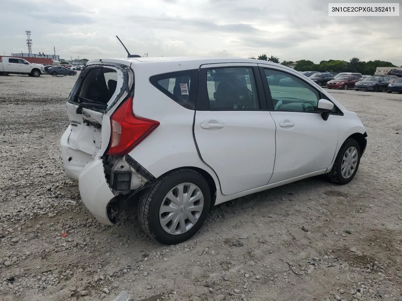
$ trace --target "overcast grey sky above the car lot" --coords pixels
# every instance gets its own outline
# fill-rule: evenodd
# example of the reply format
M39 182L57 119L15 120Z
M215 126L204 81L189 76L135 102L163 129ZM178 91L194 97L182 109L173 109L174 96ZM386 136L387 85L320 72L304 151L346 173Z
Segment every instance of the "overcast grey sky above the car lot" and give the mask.
M402 65L402 16L329 17L326 0L0 0L0 53L61 58L132 54L251 57L280 61L352 57ZM353 1L353 2L393 2ZM78 4L79 3L79 4ZM402 5L400 5L402 8Z

